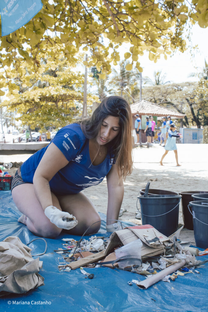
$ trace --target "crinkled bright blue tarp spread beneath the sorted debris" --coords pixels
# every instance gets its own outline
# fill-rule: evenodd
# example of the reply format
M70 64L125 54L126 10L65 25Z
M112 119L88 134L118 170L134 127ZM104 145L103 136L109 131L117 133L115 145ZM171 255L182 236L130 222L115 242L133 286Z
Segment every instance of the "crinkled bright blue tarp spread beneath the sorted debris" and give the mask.
M17 222L20 212L17 210L10 191L0 192L0 241L7 236L18 236L24 244L36 238L25 225ZM104 214L100 214L105 219ZM128 225L128 223L127 223ZM108 236L105 222L97 234ZM70 236L79 240L80 236ZM23 295L10 294L0 297L1 311L77 311L77 312L202 312L208 309L207 280L208 264L198 268L200 274L178 276L175 281L163 282L141 290L137 285L128 285L132 279L144 280L145 277L128 271L110 268L85 269L94 273L94 279L85 279L80 269L70 272L59 271L58 265L64 262L60 254L53 250L62 247L61 234L56 239L48 239L46 254L40 256L43 268L40 274L45 285ZM86 238L86 237L85 237ZM32 254L45 249L42 240L30 244ZM208 256L198 259L204 261ZM43 303L41 305L41 302ZM44 304L45 302L45 304Z

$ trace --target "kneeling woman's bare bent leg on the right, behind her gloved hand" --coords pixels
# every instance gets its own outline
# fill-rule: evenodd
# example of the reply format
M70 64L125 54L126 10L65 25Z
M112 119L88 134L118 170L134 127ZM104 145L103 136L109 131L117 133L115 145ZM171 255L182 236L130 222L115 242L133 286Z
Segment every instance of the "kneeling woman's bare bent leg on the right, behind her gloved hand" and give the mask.
M82 235L87 228L92 225L86 234L92 234L99 231L100 217L89 198L84 193L58 195L60 207L63 211L69 212L76 217L78 224L71 230L63 230L69 234Z

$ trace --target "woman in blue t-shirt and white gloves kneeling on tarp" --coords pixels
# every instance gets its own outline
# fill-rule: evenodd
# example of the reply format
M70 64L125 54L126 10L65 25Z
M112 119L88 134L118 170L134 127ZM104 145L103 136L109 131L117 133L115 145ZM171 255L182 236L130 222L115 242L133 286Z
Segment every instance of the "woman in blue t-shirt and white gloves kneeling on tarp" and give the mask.
M107 178L106 230L121 229L123 178L132 172L132 115L119 96L105 98L89 119L60 129L51 143L17 169L12 198L19 222L37 236L97 232L100 217L82 192ZM94 224L93 224L94 223Z

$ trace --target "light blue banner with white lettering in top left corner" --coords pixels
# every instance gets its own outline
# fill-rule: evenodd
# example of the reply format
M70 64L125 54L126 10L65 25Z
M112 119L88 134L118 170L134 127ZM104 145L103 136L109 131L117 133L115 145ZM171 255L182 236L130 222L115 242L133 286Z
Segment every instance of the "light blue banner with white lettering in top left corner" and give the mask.
M1 0L2 36L27 24L42 8L41 0Z

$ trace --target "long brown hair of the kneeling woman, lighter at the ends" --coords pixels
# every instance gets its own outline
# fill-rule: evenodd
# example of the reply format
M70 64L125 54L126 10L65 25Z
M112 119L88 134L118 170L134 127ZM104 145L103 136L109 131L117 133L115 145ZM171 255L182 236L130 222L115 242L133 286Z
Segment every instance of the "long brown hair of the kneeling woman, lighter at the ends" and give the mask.
M128 102L121 96L106 97L89 119L81 121L81 129L88 139L99 134L102 122L108 116L119 117L119 134L108 144L108 150L116 158L119 177L125 179L132 173L132 115Z

